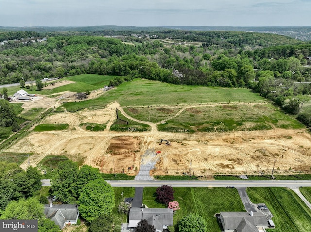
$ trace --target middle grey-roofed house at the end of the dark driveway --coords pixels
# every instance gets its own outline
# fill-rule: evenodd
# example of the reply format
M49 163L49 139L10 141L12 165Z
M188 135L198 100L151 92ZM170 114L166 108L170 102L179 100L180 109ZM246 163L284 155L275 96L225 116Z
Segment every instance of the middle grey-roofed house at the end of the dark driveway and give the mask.
M168 226L173 226L173 209L132 207L129 213L129 229L135 231L138 222L143 219L153 225L156 232L162 232Z

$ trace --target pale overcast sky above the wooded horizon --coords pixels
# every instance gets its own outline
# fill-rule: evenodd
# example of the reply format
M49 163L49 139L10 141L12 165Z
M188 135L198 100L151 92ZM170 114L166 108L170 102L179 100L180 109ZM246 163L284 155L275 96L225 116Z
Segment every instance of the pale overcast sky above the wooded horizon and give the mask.
M311 0L0 0L0 26L311 26Z

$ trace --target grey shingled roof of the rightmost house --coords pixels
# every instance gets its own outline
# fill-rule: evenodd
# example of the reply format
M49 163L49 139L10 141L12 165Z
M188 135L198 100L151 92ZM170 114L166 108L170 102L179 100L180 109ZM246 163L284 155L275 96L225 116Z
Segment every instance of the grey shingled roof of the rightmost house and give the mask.
M268 224L267 218L262 212L253 212L253 216L250 212L220 212L220 216L223 219L224 230L237 229L240 223L245 224L245 226L247 227L249 227L250 225L256 227ZM255 227L253 227L253 229ZM242 230L242 225L240 226L240 229L241 232L244 232ZM252 232L252 230L249 230L249 232Z

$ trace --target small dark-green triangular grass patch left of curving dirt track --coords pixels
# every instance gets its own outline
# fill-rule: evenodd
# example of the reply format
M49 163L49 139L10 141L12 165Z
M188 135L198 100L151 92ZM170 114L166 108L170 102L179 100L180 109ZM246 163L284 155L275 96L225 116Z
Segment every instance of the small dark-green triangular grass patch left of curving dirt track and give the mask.
M119 119L111 125L111 131L130 131L130 132L143 132L150 131L150 126L147 124L138 123L136 121L126 118L121 112L118 112ZM126 123L127 122L127 123Z

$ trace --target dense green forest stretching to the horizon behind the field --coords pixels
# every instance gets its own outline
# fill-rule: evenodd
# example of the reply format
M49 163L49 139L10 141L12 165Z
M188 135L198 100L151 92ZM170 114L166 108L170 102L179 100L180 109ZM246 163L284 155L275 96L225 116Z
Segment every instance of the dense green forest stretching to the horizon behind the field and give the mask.
M0 84L95 73L120 76L111 81L113 86L147 78L181 85L247 87L296 114L305 101L300 96L311 92L311 43L276 34L4 31L1 41Z

